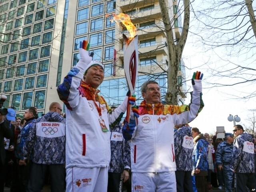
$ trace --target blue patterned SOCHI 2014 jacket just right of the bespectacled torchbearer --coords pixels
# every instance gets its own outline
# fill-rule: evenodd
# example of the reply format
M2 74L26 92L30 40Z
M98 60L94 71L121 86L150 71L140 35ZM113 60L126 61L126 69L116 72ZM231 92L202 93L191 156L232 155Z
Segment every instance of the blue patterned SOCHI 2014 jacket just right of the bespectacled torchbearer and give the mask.
M193 145L190 127L182 126L174 133L176 170L192 171Z

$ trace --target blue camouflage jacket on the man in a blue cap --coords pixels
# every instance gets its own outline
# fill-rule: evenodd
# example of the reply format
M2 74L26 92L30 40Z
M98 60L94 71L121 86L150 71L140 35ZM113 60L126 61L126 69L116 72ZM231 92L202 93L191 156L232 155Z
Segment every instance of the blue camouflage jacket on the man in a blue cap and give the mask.
M226 141L221 142L216 151L216 164L230 164L233 156L233 144L229 144Z

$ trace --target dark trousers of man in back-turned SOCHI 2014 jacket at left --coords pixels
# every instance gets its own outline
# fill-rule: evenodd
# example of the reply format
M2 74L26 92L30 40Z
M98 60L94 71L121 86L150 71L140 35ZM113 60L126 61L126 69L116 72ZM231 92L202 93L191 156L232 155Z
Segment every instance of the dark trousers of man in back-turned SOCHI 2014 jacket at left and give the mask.
M64 165L44 165L36 163L33 163L31 168L28 192L41 192L48 172L50 174L51 192L65 192L66 171Z

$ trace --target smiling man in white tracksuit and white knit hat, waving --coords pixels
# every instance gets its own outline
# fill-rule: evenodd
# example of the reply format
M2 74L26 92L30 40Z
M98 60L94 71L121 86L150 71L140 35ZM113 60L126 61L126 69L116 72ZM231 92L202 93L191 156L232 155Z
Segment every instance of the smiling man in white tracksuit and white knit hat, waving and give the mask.
M80 60L58 86L66 105L66 192L106 192L110 163L109 124L120 122L127 99L114 111L97 88L104 79L101 63L92 61L87 41Z

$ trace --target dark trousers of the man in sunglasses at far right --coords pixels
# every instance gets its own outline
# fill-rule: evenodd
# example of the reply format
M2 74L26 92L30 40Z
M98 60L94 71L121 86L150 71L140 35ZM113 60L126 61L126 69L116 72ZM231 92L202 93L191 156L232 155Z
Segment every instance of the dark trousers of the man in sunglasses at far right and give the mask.
M236 192L246 192L247 188L250 191L255 191L256 180L254 173L237 173L235 174L235 188Z

